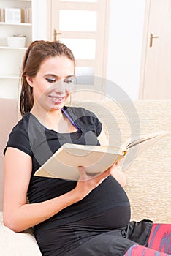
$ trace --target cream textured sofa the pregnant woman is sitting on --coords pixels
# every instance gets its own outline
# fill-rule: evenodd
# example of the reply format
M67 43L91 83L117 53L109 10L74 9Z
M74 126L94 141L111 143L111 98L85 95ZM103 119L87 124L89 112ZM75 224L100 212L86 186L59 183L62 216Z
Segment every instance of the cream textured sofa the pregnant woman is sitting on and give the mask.
M75 102L74 105L80 105ZM165 130L171 131L171 100L137 100L128 108L115 102L83 102L83 105L99 116L108 134L121 132L121 140L134 132L142 134ZM18 102L0 99L0 211L2 211L4 157L2 151L10 129L18 120ZM117 129L113 129L113 123ZM133 132L133 133L134 133ZM132 205L132 219L152 219L154 222L171 222L171 135L162 138L148 148L125 170L126 192ZM14 233L3 225L0 214L0 255L41 255L31 230Z

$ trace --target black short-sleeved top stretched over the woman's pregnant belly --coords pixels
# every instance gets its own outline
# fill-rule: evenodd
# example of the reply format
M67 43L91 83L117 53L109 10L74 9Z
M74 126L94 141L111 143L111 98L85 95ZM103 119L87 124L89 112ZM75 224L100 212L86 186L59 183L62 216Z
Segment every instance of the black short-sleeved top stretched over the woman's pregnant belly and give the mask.
M49 200L75 188L75 181L33 176L61 145L64 143L99 145L96 137L102 130L102 124L94 113L78 107L64 107L64 110L79 128L77 132L55 132L44 127L31 113L26 113L9 135L7 147L18 148L32 158L32 174L28 187L30 203ZM50 227L54 225L54 221L56 226L65 225L117 206L129 206L129 200L118 181L113 176L109 176L83 200L64 208L37 227L40 229L47 225Z

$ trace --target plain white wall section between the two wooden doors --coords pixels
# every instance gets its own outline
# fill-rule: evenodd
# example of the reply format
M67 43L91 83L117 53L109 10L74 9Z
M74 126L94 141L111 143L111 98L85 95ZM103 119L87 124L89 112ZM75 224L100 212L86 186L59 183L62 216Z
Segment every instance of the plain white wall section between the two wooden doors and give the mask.
M110 0L107 79L131 99L139 94L144 12L145 0Z

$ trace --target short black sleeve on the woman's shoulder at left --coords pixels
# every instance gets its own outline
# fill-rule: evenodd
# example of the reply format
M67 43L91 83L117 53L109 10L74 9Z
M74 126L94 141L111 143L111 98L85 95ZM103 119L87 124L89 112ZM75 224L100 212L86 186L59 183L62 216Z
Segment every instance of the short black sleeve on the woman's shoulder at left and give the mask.
M26 129L22 127L20 122L12 129L12 132L9 134L9 140L7 146L4 149L4 154L8 147L18 148L20 151L32 156L31 146L28 139L28 133Z

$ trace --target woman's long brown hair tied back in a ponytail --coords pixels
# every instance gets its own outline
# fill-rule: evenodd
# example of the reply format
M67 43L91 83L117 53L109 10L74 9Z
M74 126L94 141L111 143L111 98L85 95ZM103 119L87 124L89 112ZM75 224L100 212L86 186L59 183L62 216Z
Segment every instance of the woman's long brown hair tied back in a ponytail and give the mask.
M30 111L34 104L33 88L29 86L26 75L34 78L42 62L56 56L65 56L75 65L72 51L61 42L34 41L26 50L21 70L20 113L22 116Z

